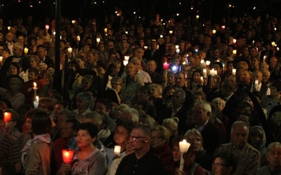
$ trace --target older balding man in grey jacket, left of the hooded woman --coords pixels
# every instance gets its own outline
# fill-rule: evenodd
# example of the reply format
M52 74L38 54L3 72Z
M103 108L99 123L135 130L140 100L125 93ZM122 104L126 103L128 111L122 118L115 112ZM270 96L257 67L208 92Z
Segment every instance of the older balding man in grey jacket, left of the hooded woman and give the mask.
M233 123L231 128L230 144L223 144L216 149L216 153L232 153L237 159L238 164L235 175L255 174L259 168L259 151L248 144L248 136L249 127L247 123L237 121Z

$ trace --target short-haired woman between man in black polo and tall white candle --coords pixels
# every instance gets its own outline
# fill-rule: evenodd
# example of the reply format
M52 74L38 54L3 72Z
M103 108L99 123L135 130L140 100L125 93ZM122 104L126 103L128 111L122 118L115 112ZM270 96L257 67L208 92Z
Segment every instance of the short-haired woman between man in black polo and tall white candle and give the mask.
M169 130L167 130L166 127L158 125L157 127L154 127L151 132L151 151L162 161L164 167L166 167L169 165L169 162L171 162L173 156L169 146Z

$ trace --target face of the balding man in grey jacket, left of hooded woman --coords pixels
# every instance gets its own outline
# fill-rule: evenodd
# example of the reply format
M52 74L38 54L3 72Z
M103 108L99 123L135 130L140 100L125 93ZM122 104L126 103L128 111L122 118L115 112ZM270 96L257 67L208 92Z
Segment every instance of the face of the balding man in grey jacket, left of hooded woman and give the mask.
M234 126L230 134L233 145L237 148L243 148L248 141L248 128L243 126Z

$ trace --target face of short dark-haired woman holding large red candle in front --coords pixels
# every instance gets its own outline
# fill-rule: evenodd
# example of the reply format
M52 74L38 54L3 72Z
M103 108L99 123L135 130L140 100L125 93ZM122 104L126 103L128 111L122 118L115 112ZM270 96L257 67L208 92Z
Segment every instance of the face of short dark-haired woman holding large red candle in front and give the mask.
M91 135L87 130L79 130L76 139L79 148L88 148L93 144L93 141L95 141L96 138L91 138Z

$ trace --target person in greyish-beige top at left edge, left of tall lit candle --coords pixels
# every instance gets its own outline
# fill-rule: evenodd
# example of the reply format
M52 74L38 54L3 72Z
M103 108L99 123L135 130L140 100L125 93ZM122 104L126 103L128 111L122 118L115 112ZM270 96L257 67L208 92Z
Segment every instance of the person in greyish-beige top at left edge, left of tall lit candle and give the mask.
M19 78L11 78L8 90L0 87L0 95L11 102L14 110L18 110L25 104L25 95L19 92L21 84L22 81Z

